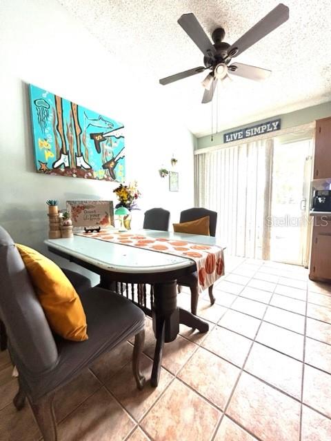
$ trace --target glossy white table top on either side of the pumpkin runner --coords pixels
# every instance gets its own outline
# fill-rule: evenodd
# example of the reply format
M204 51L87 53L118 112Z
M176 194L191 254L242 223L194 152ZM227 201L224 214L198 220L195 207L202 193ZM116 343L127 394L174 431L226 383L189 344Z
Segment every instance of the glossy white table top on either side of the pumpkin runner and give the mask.
M216 239L209 236L159 232L152 229L143 229L134 233L152 237L183 239L193 243L217 245ZM190 258L173 256L149 249L131 247L130 245L111 243L105 240L97 240L83 236L47 239L44 243L60 252L65 252L70 256L77 257L92 265L114 272L166 272L194 265L194 261Z

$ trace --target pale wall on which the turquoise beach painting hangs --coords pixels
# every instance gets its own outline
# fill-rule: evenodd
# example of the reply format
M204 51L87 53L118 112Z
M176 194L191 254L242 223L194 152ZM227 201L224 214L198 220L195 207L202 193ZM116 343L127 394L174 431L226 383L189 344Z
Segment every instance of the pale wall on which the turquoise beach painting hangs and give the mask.
M46 252L48 198L63 208L68 199L114 198L114 183L35 172L27 83L123 122L127 181L137 179L141 208L165 207L176 222L193 205L194 136L57 1L2 1L0 17L0 225L17 242ZM158 174L173 152L178 193Z

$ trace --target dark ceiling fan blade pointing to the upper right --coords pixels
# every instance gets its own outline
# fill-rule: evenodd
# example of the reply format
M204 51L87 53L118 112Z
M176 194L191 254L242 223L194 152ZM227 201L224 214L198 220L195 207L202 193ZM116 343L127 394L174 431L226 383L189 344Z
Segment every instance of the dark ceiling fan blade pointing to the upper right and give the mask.
M269 12L269 14L261 19L248 32L243 34L239 40L233 43L228 50L228 54L230 57L237 57L237 55L241 54L244 50L250 48L250 46L265 37L265 35L270 34L270 32L278 28L278 26L288 20L288 17L288 6L283 5L283 3L279 3L276 8ZM234 52L236 49L237 52ZM231 55L231 51L234 52L233 55Z

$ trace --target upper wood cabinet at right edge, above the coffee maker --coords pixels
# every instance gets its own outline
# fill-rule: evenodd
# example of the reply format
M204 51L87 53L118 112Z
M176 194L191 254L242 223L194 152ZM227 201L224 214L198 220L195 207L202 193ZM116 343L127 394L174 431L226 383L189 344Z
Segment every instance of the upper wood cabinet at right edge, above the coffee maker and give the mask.
M331 178L331 116L316 121L314 179L322 178Z

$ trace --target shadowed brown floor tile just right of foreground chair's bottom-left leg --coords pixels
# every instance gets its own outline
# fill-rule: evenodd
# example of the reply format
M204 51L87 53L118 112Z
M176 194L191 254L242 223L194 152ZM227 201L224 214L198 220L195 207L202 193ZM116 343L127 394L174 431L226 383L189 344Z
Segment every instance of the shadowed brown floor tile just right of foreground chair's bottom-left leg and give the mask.
M86 398L101 388L101 382L88 369L57 391L54 398L54 411L57 422L62 421Z

